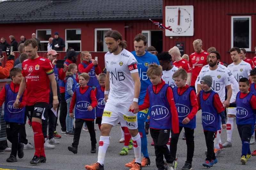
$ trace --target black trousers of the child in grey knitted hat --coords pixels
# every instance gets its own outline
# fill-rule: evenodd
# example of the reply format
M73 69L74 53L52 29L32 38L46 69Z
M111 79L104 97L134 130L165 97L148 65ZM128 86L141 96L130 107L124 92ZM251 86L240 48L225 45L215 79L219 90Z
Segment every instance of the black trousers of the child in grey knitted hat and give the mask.
M206 155L206 159L209 162L212 161L212 159L215 159L215 153L214 153L214 138L215 138L216 132L213 131L204 131L204 137L205 137L205 142L206 142L206 146L207 146L207 155ZM186 136L187 138L187 136Z

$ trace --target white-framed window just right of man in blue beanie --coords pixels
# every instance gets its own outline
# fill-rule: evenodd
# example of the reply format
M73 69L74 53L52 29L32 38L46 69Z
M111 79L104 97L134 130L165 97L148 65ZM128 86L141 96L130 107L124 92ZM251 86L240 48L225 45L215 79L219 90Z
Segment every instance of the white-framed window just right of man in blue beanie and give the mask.
M65 50L72 47L75 51L81 51L81 29L66 29L65 37Z

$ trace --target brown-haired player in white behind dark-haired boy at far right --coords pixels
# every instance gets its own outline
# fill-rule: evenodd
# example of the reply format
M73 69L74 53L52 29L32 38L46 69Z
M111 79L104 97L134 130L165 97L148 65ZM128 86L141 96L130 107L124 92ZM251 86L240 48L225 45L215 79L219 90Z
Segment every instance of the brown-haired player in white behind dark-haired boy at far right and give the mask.
M252 67L249 63L246 63L244 60L240 59L241 51L237 47L233 47L230 50L231 59L233 61L232 64L228 65L228 70L232 72L235 76L236 81L239 82L240 78L247 78L251 79L250 71ZM252 82L252 79L251 79ZM233 103L236 101L236 92L234 90L234 86L231 85L232 88L232 96L230 102ZM234 124L234 117L236 115L236 107L228 107L228 122L227 122L227 141L222 145L223 148L231 147L231 137L233 132L233 124Z

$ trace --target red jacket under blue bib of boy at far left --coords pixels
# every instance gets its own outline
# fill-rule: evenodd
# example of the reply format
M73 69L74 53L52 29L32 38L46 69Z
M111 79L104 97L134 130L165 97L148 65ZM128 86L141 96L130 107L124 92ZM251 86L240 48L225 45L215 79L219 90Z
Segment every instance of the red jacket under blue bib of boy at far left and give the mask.
M16 93L19 91L20 84L14 84L13 82L11 82L10 87L11 87L12 92ZM6 96L6 92L5 92L5 88L3 88L2 91L0 92L0 107L4 103L5 96ZM27 89L25 89L25 91L23 92L23 96L22 96L22 100L20 102L19 108L25 107L26 105L27 105Z

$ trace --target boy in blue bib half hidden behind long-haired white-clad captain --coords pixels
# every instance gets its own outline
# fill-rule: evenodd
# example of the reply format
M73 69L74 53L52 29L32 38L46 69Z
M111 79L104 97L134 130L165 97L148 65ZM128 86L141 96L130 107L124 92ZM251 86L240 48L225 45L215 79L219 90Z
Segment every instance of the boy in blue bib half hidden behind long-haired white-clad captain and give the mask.
M105 81L106 81L105 79L106 79L106 74L100 73L98 76L98 81L100 85L98 85L94 90L94 94L97 99L95 123L98 124L99 129L101 126L102 115L105 108L105 102L104 102Z

